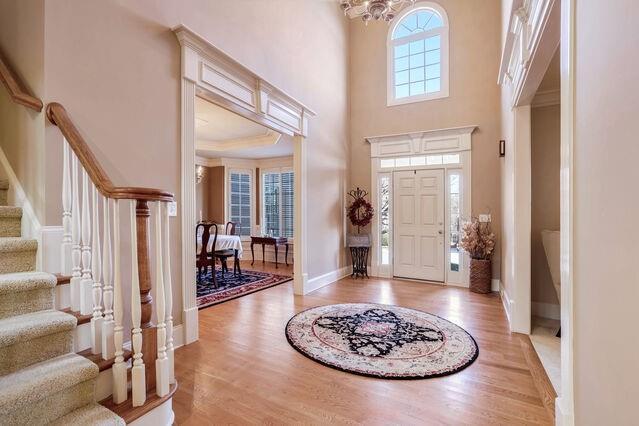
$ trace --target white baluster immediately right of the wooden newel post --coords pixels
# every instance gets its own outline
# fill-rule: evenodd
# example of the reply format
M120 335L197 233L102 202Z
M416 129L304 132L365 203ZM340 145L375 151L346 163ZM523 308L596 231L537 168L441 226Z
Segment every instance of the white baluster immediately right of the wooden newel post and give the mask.
M155 299L158 320L158 354L155 360L155 392L159 397L169 393L169 360L166 356L166 324L164 317L166 305L164 303L164 262L162 260L162 202L158 201L155 215Z

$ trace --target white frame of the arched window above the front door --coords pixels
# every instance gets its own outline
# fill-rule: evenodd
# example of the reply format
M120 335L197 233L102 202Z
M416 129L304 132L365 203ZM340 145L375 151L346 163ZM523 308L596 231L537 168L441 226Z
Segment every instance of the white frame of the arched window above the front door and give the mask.
M412 36L402 38L399 40L393 40L393 32L399 23L407 15L420 9L431 9L442 18L442 26L434 28L430 31L413 34ZM425 93L423 95L408 96L405 98L395 98L395 57L394 47L396 44L404 44L412 40L422 40L432 36L440 36L440 52L441 52L441 69L440 69L440 90L433 93ZM388 29L388 35L386 36L386 105L396 106L405 105L414 102L424 102L434 99L447 98L450 93L450 42L449 42L449 25L448 14L446 10L438 3L431 1L422 1L416 3L414 6L405 8L402 10L393 20L390 28Z

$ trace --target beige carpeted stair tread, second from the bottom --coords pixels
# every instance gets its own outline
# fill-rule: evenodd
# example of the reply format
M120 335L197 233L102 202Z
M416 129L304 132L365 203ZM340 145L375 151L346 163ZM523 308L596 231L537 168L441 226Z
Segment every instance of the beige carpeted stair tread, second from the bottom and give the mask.
M5 413L28 412L32 404L61 396L69 388L95 380L98 374L94 363L70 353L1 376L0 418Z

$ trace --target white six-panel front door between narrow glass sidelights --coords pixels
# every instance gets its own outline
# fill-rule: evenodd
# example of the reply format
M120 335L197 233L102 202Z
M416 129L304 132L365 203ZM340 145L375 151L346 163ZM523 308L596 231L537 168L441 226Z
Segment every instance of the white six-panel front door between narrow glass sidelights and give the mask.
M393 275L444 281L444 170L393 174Z

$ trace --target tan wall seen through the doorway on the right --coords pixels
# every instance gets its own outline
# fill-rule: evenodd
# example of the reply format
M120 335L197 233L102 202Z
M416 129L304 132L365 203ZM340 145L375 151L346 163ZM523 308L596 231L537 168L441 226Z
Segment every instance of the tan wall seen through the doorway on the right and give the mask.
M541 241L542 230L559 230L559 105L533 108L531 130L531 299L559 304Z

